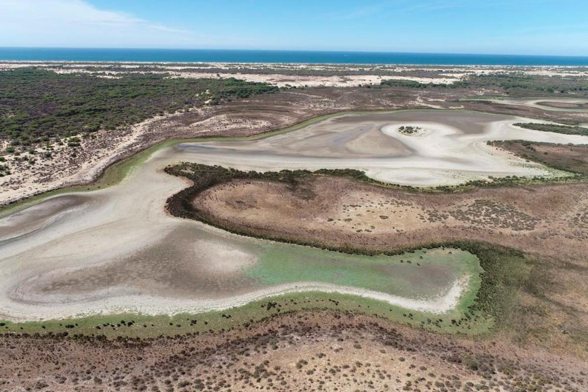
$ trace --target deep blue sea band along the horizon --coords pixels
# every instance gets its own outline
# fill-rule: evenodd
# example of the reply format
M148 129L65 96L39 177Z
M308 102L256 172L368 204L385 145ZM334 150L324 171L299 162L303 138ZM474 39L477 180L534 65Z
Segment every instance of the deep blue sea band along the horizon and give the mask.
M0 48L0 60L588 66L588 56L251 51L220 49Z

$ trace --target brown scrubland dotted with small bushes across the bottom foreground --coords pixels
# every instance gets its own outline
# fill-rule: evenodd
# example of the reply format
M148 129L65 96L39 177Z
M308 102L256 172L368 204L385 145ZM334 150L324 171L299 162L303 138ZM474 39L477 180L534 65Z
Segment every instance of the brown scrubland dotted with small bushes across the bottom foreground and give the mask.
M0 337L2 390L553 390L569 358L449 339L369 316L286 314L220 334L105 341Z

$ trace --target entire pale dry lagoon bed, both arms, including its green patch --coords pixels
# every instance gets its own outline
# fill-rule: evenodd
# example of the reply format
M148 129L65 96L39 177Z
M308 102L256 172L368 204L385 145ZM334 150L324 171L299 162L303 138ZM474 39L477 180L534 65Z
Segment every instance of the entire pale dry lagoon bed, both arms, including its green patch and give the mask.
M443 313L471 298L479 272L472 254L430 251L409 267L393 263L396 256L378 262L236 236L169 216L166 199L187 184L162 169L182 161L262 171L336 167L392 183L450 185L489 175L563 175L487 140L588 142L512 126L524 121L459 110L350 113L262 140L160 149L118 185L51 197L0 220L0 317L196 313L305 290ZM403 125L422 131L404 135ZM299 274L288 272L292 265Z

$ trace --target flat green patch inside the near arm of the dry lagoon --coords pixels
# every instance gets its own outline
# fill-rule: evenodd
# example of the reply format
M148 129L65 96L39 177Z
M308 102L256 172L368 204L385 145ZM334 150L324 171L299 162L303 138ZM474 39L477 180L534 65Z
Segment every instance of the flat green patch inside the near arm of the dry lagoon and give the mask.
M284 244L269 247L246 275L263 286L318 282L427 299L462 277L476 280L481 272L477 257L459 249L366 256Z

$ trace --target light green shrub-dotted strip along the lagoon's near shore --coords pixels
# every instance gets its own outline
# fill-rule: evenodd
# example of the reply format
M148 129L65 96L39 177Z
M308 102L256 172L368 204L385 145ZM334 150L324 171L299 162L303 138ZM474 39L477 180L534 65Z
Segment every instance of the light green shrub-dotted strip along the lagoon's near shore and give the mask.
M248 327L250 324L262 321L267 317L305 310L333 310L343 313L368 314L390 321L422 326L427 330L439 331L440 333L482 335L486 334L493 326L493 320L490 317L484 317L474 311L468 312L467 315L459 311L432 315L348 294L303 292L253 301L244 306L223 311L198 314L179 313L173 316L148 316L121 313L23 323L2 321L0 322L0 331L28 334L103 335L109 339L118 336L145 338L162 334L213 333L238 326ZM122 321L125 322L122 323Z

